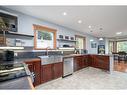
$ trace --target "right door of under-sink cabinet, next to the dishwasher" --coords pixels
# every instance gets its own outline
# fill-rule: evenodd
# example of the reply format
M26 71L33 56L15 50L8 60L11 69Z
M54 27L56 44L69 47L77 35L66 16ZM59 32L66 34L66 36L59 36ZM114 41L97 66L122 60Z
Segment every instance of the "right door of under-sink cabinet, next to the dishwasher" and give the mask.
M55 63L53 64L53 78L59 78L63 75L63 64L62 63Z

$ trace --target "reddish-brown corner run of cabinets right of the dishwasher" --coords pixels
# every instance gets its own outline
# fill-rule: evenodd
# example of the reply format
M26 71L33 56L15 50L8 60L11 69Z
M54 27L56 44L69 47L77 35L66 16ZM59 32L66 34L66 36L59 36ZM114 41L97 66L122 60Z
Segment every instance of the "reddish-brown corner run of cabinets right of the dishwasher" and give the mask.
M105 56L105 55L75 56L74 71L80 70L88 66L109 70L109 64L110 64L109 58L110 58L109 56Z

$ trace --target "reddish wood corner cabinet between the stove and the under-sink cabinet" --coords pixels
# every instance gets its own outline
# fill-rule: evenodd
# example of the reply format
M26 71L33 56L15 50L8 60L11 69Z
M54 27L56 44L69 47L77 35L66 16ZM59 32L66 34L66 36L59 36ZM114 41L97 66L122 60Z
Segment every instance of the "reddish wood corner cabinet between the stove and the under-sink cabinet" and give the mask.
M39 85L41 83L41 60L30 60L25 61L25 63L28 65L30 72L34 75L33 85Z

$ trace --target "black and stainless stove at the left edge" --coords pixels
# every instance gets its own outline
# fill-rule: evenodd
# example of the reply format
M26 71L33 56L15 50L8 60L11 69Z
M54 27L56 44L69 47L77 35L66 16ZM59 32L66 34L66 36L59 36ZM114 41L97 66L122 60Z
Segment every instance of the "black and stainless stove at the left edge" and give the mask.
M30 75L26 64L0 64L0 82Z

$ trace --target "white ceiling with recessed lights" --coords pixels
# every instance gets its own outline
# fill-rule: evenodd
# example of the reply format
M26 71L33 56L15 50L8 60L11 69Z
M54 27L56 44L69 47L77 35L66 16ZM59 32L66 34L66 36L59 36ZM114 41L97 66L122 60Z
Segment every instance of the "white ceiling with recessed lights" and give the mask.
M127 6L6 7L96 37L127 35ZM67 15L63 15L63 12ZM82 20L82 23L78 23L78 20ZM116 32L122 32L122 34L116 35Z

